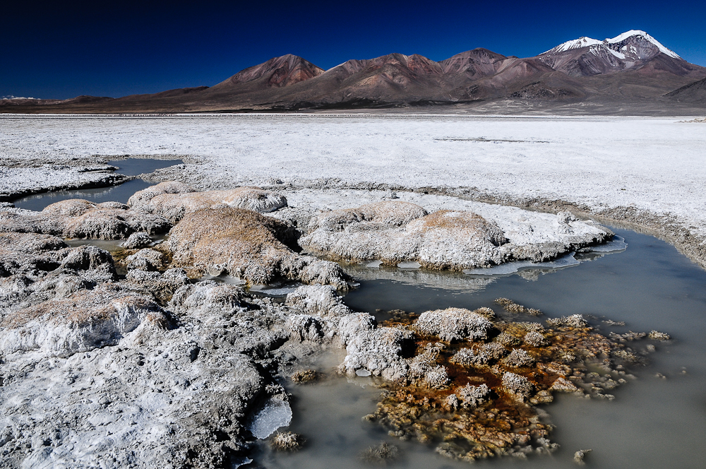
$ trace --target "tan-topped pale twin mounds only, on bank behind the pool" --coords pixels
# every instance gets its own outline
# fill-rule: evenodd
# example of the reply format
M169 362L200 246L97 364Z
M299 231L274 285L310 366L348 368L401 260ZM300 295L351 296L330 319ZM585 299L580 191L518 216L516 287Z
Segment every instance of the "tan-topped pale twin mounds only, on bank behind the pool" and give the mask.
M409 202L383 201L314 217L302 247L331 259L460 270L505 261L507 239L493 222L465 211L427 214Z

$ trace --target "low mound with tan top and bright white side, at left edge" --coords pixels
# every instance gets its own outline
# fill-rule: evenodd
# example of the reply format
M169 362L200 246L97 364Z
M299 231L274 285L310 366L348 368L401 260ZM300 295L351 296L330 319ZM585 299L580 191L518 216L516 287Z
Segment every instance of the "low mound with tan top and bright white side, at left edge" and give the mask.
M0 350L67 357L115 345L143 321L162 327L167 323L147 297L104 284L6 315L0 323Z

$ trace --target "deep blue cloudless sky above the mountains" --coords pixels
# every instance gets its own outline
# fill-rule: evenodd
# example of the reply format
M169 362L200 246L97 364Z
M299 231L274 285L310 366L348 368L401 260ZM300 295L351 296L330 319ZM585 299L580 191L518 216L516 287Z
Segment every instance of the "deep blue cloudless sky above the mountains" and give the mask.
M645 30L706 66L706 1L92 1L0 8L0 97L119 97L215 85L272 57L323 69L392 52L532 57Z

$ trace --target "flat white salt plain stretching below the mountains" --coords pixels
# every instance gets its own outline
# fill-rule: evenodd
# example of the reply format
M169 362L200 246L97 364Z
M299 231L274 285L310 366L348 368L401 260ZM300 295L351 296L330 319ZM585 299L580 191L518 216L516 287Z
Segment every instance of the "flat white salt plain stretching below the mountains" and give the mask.
M329 187L476 188L510 203L561 199L616 219L622 208L664 220L671 215L700 244L706 238L706 126L680 120L4 116L0 164L183 155L186 168L162 177L203 188L270 185L276 179L303 186L328 178L337 179L326 182Z

